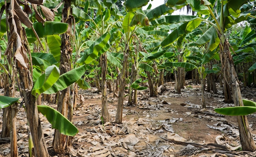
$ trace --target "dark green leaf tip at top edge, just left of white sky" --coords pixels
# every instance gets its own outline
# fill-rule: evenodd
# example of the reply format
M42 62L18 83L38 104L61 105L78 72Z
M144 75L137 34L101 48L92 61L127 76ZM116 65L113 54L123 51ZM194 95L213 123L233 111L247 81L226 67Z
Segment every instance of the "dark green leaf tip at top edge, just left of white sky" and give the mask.
M149 0L126 0L124 5L129 12L136 11L137 9L148 4Z

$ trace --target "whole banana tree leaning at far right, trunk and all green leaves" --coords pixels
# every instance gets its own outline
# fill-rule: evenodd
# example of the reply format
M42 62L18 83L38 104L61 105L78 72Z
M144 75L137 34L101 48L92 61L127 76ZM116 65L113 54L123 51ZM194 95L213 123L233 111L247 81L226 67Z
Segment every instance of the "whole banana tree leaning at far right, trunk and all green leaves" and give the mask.
M140 4L133 4L131 7L141 7L147 3L147 0L144 0ZM171 1L167 0L167 5L175 6L179 1ZM224 31L231 27L231 25L236 24L237 22L246 20L248 16L251 16L250 13L241 13L240 7L245 4L247 1L235 1L235 0L222 0L216 1L211 0L210 2L207 0L186 0L183 1L188 3L193 11L196 11L200 17L203 15L210 15L211 18L203 19L196 18L191 20L189 25L188 23L184 23L179 26L180 29L177 31L173 31L163 42L162 46L170 45L174 40L183 36L187 32L195 29L199 24L198 22L205 21L208 25L211 25L211 28L208 32L201 36L199 43L207 43L209 42L208 49L213 51L216 47L220 47L220 58L222 62L222 69L224 71L224 78L228 85L228 89L232 90L233 100L236 106L243 105L242 97L240 94L239 83L236 76L236 71L234 70L234 63L230 54L229 42L225 38ZM218 15L215 15L212 11L213 6L216 5L216 11ZM218 16L218 20L216 18ZM196 22L198 21L198 22ZM193 24L194 23L194 24ZM198 25L197 25L198 24ZM209 33L211 32L211 33ZM210 34L210 35L209 35ZM173 38L173 40L172 40ZM202 40L206 42L202 42ZM249 130L248 121L245 116L238 116L238 126L240 131L240 139L243 150L254 151L256 150L254 141L252 139L252 134Z

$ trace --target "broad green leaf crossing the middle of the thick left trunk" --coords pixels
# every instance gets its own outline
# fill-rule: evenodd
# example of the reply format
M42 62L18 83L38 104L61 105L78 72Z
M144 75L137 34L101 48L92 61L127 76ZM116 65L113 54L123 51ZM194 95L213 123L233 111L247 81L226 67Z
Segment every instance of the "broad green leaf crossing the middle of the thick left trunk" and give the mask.
M72 83L75 83L78 81L81 76L85 73L85 65L82 65L80 67L77 67L73 70L70 70L69 72L66 72L65 74L62 74L58 80L50 87L48 90L46 90L45 94L54 94L60 90L66 89L68 86L70 86Z

